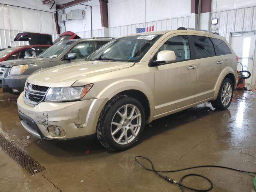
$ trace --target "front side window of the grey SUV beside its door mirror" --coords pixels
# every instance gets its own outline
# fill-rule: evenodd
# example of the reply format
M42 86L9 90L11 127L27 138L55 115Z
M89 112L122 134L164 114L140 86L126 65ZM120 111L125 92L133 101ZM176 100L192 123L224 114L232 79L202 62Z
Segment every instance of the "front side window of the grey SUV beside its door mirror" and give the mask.
M94 41L78 43L70 50L70 53L76 53L76 58L86 58L94 52Z

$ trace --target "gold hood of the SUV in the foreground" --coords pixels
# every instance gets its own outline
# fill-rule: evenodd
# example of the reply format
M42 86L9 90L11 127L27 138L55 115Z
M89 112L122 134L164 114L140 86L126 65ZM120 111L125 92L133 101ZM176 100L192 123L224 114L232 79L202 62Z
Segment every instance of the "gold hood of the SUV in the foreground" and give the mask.
M39 86L72 86L77 80L128 68L133 62L80 61L63 64L32 74L27 81Z

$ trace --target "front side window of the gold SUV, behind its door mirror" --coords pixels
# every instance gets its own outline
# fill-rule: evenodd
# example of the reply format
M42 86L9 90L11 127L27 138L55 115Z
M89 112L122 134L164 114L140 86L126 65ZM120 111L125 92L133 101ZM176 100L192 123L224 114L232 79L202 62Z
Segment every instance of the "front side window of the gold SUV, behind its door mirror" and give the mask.
M174 36L168 39L156 52L154 60L157 59L158 52L164 50L174 51L176 55L176 61L190 59L190 49L188 44L188 37L186 35Z

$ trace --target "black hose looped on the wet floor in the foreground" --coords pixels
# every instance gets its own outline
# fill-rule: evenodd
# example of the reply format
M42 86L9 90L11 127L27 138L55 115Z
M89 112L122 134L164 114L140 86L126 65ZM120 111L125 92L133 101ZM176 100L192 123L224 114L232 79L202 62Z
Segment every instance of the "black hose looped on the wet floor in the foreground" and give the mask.
M144 166L139 160L138 158L143 158L145 160L147 160L148 162L150 162L151 164L151 167L152 168L147 168L146 166ZM184 192L184 188L187 188L187 189L190 189L190 190L194 190L194 191L198 191L198 192L207 192L207 191L210 191L212 190L213 188L213 183L212 181L207 178L206 176L203 176L203 175L200 175L200 174L186 174L184 176L182 176L180 178L180 181L177 182L175 181L174 179L168 177L168 176L164 176L163 174L161 173L171 173L171 172L178 172L178 171L183 171L183 170L188 170L188 169L194 169L194 168L202 168L202 167L216 167L216 168L225 168L225 169L230 169L230 170L234 170L234 171L239 171L239 172L244 172L244 173L250 173L250 174L256 174L256 172L250 172L250 171L244 171L244 170L239 170L239 169L235 169L235 168L230 168L230 167L226 167L226 166L218 166L218 165L200 165L200 166L192 166L192 167L187 167L187 168L182 168L182 169L176 169L176 170L155 170L154 168L154 164L153 162L149 159L149 158L146 158L144 156L136 156L135 158L135 162L137 162L140 166L142 166L144 169L148 170L148 171L152 171L154 173L156 173L158 176L162 177L164 180L170 182L170 183L174 183L174 184L178 184L179 187L180 187L180 191L181 192ZM182 180L184 180L184 178L188 177L188 176L198 176L198 177L201 177L201 178L204 178L205 180L207 180L209 183L210 183L210 187L207 188L207 189L197 189L197 188L192 188L190 186L186 186L184 184L182 184Z

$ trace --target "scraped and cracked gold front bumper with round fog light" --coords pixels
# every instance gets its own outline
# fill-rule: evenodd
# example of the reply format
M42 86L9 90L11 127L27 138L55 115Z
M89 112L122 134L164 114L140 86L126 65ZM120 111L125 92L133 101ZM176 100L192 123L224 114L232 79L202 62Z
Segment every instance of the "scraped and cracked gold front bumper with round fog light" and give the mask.
M32 135L44 140L67 140L95 134L98 112L104 98L74 102L41 102L26 104L20 94L18 115L22 126ZM56 134L56 129L60 134Z

